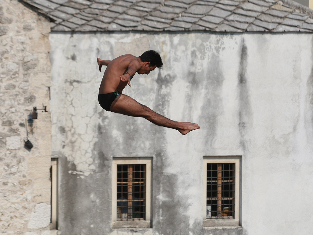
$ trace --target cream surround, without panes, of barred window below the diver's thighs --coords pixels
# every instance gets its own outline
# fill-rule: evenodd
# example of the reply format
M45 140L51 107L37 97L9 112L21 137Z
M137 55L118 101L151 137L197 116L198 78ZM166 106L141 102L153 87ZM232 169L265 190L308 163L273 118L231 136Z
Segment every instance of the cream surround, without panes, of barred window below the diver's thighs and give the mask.
M145 220L117 220L117 165L146 165ZM151 227L151 158L117 157L112 161L112 228Z

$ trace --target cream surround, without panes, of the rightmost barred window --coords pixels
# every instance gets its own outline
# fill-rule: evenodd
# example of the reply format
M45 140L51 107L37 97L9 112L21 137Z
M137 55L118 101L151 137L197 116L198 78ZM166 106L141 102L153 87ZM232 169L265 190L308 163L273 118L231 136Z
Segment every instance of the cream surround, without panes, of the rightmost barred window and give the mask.
M235 164L235 214L234 218L207 218L207 164L234 163ZM203 157L203 227L239 226L240 202L240 157Z

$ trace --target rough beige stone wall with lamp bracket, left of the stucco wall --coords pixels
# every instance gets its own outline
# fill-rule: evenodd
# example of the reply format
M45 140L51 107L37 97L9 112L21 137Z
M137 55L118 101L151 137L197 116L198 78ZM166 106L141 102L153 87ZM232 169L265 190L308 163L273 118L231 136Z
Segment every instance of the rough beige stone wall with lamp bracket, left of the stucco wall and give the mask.
M0 0L0 234L50 233L49 20ZM33 144L24 148L24 139Z

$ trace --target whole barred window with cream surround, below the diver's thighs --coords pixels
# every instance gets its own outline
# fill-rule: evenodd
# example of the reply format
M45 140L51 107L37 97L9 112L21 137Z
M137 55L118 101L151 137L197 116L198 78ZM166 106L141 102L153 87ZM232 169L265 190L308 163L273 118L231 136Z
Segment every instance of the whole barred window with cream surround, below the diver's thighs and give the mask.
M112 228L151 227L151 160L113 158Z

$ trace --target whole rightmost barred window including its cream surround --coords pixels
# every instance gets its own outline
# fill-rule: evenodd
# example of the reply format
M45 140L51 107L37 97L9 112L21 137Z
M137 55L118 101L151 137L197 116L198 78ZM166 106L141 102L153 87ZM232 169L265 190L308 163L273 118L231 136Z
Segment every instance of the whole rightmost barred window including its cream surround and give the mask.
M241 156L203 158L203 226L238 226Z

